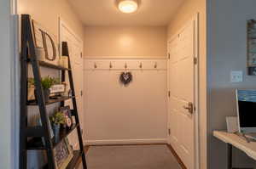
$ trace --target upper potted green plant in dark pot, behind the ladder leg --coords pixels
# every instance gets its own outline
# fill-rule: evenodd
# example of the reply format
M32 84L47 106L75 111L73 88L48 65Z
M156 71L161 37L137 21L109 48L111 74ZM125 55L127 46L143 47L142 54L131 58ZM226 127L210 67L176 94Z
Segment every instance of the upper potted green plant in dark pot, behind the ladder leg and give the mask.
M49 94L50 94L49 88L52 87L53 85L59 83L59 82L60 81L59 81L58 78L54 78L54 77L50 77L50 76L46 76L46 77L41 79L41 84L42 84L42 87L43 87L43 90L44 90L45 102L49 101ZM34 83L35 83L34 79L30 78L29 83L34 85ZM37 96L36 91L35 91L35 96ZM37 97L36 97L36 99L37 99Z

